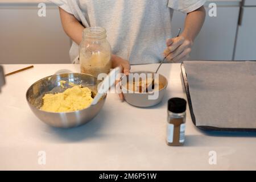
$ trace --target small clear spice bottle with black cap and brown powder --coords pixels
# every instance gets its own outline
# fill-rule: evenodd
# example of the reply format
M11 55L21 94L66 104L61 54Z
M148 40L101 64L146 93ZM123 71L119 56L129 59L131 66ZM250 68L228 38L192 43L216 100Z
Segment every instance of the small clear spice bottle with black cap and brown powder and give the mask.
M171 98L168 101L167 144L181 146L185 141L185 119L187 101Z

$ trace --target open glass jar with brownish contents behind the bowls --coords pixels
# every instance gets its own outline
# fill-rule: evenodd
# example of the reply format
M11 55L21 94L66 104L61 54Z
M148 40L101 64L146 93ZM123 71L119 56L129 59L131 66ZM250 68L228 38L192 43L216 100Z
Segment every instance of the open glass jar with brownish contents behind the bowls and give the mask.
M102 27L85 28L79 47L79 60L82 73L98 77L108 74L112 68L111 47Z

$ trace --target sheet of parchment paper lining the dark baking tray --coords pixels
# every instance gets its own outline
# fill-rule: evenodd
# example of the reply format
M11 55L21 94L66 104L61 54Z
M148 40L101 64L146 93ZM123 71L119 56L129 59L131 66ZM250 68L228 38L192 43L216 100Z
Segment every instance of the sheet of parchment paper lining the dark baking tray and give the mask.
M256 129L256 61L184 61L196 126Z

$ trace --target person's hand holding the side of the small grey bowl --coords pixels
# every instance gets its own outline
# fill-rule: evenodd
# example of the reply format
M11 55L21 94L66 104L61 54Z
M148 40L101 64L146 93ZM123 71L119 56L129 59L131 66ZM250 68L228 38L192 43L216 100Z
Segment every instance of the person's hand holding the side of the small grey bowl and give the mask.
M125 59L122 59L121 57L116 56L116 55L112 55L111 60L112 60L113 68L121 67L122 72L125 75L129 75L130 69L131 69L129 61L127 61ZM119 81L115 82L115 85L117 85L117 84L119 84ZM123 101L123 94L122 93L119 94L119 98L121 99L121 101Z

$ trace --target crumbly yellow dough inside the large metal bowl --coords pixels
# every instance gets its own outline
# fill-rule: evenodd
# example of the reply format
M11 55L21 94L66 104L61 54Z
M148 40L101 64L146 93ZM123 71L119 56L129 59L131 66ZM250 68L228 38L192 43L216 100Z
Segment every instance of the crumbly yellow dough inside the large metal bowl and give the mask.
M92 90L75 85L63 93L45 94L41 110L55 113L82 110L93 101Z

